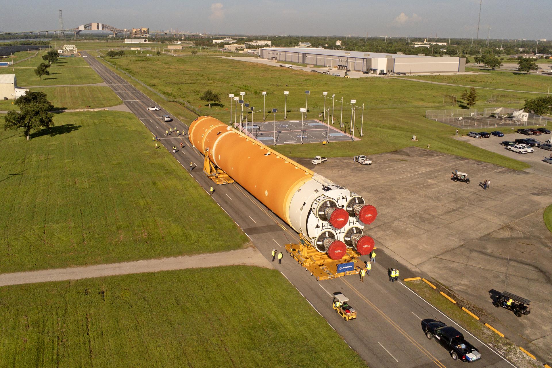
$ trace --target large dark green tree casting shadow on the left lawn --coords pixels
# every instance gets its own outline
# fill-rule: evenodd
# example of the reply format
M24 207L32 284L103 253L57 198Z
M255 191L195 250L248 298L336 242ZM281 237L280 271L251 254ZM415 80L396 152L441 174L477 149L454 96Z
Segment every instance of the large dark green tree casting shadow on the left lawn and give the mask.
M50 110L54 108L43 92L27 92L25 95L15 99L15 104L21 110L9 111L4 118L4 130L22 129L23 134L30 139L31 130L39 130L41 127L49 129L54 126L52 118L54 114Z

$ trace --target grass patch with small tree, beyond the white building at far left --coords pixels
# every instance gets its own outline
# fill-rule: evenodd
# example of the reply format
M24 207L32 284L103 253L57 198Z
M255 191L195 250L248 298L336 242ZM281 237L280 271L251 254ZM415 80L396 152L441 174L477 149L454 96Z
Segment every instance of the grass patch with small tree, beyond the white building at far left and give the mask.
M44 52L44 51L43 51ZM19 87L55 86L61 84L102 83L102 78L88 67L82 57L63 57L49 68L50 76L37 77L34 69L44 60L40 54L30 59L30 64L23 61L15 65L15 77ZM1 68L0 74L13 74L12 68Z

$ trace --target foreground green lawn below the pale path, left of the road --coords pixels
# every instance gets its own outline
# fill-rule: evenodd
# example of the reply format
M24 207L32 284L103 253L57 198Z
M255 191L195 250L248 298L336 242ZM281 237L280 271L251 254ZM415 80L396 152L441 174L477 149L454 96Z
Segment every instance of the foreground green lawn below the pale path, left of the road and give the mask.
M275 270L4 286L0 303L0 366L366 367Z

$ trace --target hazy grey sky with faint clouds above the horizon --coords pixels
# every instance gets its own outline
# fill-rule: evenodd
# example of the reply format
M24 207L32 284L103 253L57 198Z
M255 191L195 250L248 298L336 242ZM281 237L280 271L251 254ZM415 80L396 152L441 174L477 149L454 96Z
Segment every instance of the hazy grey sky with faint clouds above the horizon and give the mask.
M552 39L550 0L482 0L479 37ZM522 5L521 5L522 4ZM104 23L194 33L475 38L479 0L25 0L3 2L0 30Z

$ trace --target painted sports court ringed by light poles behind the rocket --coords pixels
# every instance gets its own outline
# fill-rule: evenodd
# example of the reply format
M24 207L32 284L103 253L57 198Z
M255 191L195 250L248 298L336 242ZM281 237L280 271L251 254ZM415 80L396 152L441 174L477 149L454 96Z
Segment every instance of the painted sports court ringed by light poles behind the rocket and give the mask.
M301 129L302 125L302 129ZM277 138L277 144L291 145L301 143L301 130L303 133L303 143L316 143L322 141L337 142L337 141L352 141L351 135L339 130L339 125L336 126L324 124L319 120L277 120L248 123L247 125L238 125L236 129L242 130L244 133L255 138L265 145L274 144L274 130ZM354 140L358 140L354 137Z

